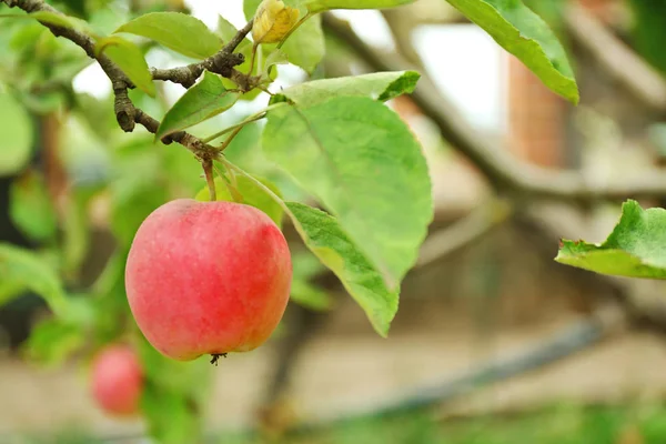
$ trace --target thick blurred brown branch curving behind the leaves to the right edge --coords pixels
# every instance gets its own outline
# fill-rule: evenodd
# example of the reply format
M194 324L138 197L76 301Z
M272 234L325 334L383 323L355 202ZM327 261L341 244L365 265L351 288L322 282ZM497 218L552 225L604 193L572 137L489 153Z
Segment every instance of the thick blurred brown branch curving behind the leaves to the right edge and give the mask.
M367 46L345 21L330 13L324 13L323 24L375 71L414 69L398 54ZM444 139L466 155L498 191L569 202L666 195L664 173L657 170L644 171L632 180L592 183L576 171L553 171L523 163L473 129L433 81L422 74L412 99L440 128Z

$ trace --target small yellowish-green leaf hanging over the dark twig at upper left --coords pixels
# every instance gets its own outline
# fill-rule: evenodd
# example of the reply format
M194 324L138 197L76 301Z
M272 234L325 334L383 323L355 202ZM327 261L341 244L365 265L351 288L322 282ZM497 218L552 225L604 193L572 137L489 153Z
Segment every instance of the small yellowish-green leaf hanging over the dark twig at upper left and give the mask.
M150 97L155 97L155 85L143 53L134 43L118 36L98 40L95 54L104 53L134 84Z

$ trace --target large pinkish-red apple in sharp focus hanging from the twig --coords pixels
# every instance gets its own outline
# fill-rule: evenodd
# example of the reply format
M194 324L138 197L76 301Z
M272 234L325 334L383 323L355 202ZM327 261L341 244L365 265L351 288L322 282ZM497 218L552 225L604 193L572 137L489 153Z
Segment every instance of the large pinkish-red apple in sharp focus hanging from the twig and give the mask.
M125 268L137 325L176 361L262 345L284 314L291 279L278 225L226 201L163 204L137 231Z

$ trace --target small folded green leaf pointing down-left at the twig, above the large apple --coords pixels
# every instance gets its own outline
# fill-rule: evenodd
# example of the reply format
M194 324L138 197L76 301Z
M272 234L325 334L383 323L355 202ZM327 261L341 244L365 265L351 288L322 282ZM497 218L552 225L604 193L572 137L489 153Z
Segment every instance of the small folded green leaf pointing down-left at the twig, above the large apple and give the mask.
M239 97L238 91L224 88L218 74L206 71L203 79L190 88L167 112L155 133L155 139L162 139L164 135L184 130L226 111L233 107Z

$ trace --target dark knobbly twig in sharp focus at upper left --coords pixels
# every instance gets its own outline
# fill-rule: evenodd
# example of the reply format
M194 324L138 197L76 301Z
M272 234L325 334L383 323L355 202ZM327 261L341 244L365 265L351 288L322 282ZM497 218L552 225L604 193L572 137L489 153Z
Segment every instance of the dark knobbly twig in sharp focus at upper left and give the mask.
M46 11L58 16L65 17L62 12L46 3L43 0L0 0L10 8L19 8L28 13L37 11ZM79 30L59 27L56 24L40 21L41 24L47 27L56 37L62 37L70 40L78 47L80 47L85 54L91 59L98 61L109 80L111 81L114 100L115 119L120 128L125 132L134 130L137 123L144 127L151 133L155 133L160 127L160 122L147 114L142 110L134 107L128 95L128 89L134 88L129 78L103 53L95 53L95 42L90 37ZM241 64L244 61L243 54L234 53L238 46L243 41L245 36L252 30L252 21L245 24L239 32L222 48L216 54L199 62L192 63L186 67L180 67L174 69L161 70L152 69L151 73L154 80L169 80L174 83L180 83L185 88L194 84L196 79L201 75L204 70L209 70L219 73L228 78L238 78L240 74L234 67ZM194 155L202 160L212 159L219 151L216 148L202 142L200 139L184 131L170 134L162 139L162 142L169 144L171 142L178 142L190 150Z

